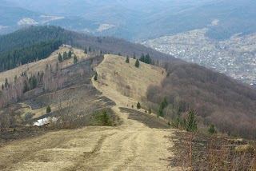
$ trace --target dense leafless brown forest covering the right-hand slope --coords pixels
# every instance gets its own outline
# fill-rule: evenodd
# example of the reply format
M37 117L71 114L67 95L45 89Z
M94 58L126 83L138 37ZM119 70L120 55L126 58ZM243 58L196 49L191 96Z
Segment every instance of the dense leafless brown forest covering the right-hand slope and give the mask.
M256 89L224 74L189 63L166 64L167 77L148 89L147 100L155 111L166 97L163 116L175 121L195 109L198 122L214 124L221 133L256 138Z

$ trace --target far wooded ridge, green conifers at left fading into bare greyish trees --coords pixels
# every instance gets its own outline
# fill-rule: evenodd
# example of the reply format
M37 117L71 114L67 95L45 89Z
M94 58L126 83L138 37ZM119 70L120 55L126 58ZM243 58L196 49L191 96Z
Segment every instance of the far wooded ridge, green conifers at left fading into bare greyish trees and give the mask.
M140 44L127 42L124 39L113 37L94 37L64 30L56 26L30 26L18 30L12 34L0 37L0 52L13 50L24 46L31 46L37 42L60 40L62 43L78 48L89 48L91 50L102 50L105 54L136 55L150 54L154 59L165 59L167 61L179 61L168 54L162 54L156 50L147 48Z

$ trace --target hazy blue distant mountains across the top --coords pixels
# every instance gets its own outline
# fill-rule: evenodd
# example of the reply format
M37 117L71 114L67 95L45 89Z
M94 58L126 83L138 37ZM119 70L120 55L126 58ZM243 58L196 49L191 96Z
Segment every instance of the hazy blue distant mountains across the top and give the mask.
M6 0L0 4L0 34L26 25L54 25L142 42L209 28L208 37L222 40L254 33L255 7L253 0Z

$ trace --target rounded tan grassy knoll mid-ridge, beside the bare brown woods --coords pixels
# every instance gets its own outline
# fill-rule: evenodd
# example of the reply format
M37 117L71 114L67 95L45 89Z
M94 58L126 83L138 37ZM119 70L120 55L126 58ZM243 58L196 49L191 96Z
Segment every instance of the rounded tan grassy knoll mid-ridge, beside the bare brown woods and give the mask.
M130 58L126 63L125 57L107 54L104 61L97 66L98 83L96 87L110 99L118 100L119 105L134 107L138 101L146 97L146 90L150 85L160 85L166 77L165 70L140 62L134 66L135 60Z

